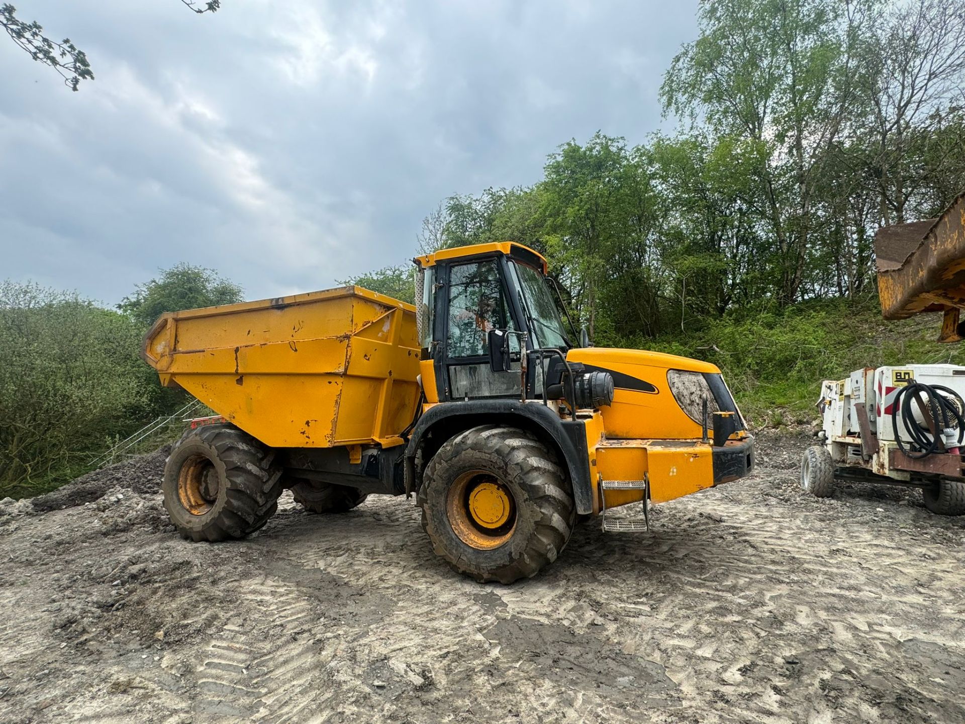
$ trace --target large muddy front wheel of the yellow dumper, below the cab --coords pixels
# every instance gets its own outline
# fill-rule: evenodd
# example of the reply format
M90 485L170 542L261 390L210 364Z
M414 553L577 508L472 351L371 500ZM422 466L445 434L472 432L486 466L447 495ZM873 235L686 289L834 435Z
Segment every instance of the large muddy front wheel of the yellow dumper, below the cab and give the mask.
M512 583L556 560L576 508L555 456L531 433L483 425L428 461L419 491L432 549L478 581Z

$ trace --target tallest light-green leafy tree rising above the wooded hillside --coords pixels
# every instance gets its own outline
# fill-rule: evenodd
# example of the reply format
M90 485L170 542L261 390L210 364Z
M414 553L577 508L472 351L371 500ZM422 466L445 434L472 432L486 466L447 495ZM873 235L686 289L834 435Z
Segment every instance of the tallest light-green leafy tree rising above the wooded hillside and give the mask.
M758 177L780 250L783 302L799 298L813 235L815 188L857 114L857 78L874 0L704 0L701 37L664 77L665 112L765 143Z

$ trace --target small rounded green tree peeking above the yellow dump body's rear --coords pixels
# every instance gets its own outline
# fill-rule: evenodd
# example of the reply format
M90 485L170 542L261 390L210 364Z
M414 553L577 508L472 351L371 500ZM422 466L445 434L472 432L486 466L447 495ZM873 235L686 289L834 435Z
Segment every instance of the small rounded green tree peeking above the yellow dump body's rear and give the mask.
M139 284L118 309L146 329L165 312L234 304L243 298L238 285L213 269L181 263L162 269L157 279Z

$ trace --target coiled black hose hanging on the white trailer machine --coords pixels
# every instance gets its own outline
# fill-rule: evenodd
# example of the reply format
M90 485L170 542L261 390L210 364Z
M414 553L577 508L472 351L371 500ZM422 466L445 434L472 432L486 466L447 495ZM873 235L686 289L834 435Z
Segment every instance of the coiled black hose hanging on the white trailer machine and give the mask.
M920 395L924 395L927 403L926 409L935 424L935 434L931 431L922 430L915 420L915 410L912 404ZM957 404L956 404L957 402ZM901 439L900 428L898 427L898 411L901 413L901 423L911 437L912 447L918 447L913 452L906 448ZM898 450L909 458L921 459L938 452L938 440L943 430L957 429L958 441L955 447L962 444L965 436L965 419L962 419L960 410L965 410L965 402L961 396L949 387L940 384L923 384L922 382L912 382L898 390L895 401L892 403L892 427L895 430L895 441Z

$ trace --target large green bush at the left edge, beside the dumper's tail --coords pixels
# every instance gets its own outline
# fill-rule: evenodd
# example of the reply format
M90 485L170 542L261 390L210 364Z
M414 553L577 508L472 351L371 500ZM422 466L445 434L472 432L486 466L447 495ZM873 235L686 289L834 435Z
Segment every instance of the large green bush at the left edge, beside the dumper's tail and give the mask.
M75 293L0 283L0 497L70 480L150 414L140 338Z

